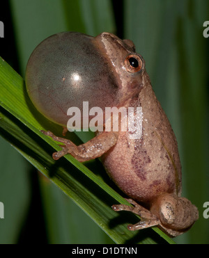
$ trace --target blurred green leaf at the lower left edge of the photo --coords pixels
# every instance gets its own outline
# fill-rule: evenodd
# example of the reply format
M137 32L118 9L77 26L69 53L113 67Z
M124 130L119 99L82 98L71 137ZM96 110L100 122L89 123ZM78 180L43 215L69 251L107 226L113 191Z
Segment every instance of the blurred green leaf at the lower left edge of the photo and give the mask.
M2 137L0 156L0 202L4 207L4 217L0 219L0 243L14 244L18 241L31 197L28 164Z

